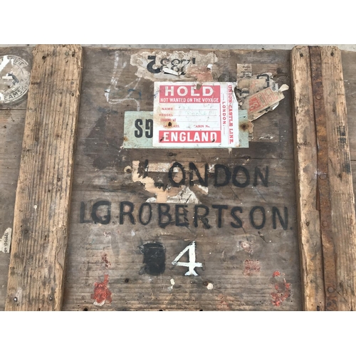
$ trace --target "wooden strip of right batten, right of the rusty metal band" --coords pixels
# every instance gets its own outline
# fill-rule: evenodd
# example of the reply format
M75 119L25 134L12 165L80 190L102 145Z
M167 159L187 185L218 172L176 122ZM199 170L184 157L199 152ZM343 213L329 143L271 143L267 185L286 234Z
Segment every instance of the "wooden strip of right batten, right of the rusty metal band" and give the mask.
M337 310L356 310L355 196L340 50L333 46L322 47L321 61L332 208L331 221L322 221L322 224L331 224L333 231L337 282L336 290L328 285L325 290L330 295L335 294Z

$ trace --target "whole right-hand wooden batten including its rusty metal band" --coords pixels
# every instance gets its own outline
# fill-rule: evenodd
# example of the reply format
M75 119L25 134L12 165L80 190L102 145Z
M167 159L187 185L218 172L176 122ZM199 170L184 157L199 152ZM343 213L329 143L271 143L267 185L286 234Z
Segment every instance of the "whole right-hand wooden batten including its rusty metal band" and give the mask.
M323 299L325 310L355 310L355 197L341 53L296 47L291 64L304 308L315 310Z

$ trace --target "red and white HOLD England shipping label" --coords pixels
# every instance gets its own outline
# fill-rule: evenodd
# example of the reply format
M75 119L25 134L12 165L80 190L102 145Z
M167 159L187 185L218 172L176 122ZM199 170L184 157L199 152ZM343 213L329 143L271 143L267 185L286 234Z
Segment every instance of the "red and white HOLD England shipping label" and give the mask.
M155 82L153 147L239 147L235 87Z

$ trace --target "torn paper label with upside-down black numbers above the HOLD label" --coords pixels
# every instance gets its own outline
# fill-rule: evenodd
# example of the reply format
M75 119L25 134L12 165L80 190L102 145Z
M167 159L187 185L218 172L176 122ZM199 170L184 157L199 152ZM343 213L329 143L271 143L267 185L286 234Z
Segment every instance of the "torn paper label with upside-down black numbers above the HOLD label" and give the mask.
M130 58L130 64L137 67L137 77L154 81L167 78L211 81L211 69L216 61L215 53L200 54L199 51L145 51L135 53Z

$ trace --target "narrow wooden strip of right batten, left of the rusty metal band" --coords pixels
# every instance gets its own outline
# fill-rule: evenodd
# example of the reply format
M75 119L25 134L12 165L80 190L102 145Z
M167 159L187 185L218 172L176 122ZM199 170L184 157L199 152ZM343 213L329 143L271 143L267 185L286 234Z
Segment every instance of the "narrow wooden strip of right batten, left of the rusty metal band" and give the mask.
M308 46L291 51L298 231L304 310L325 310L317 151Z

